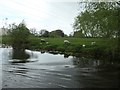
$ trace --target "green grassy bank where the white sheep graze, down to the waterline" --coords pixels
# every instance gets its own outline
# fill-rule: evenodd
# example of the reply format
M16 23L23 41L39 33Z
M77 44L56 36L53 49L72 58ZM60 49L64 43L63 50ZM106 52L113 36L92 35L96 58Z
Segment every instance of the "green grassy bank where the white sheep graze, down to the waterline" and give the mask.
M5 44L10 44L8 37L3 37ZM44 39L45 42L41 42ZM64 40L69 40L70 44L65 44ZM29 38L29 49L38 51L49 51L51 53L63 53L66 56L85 56L98 59L119 59L119 52L116 49L116 40L107 38ZM91 45L94 41L95 44ZM48 42L48 43L46 43ZM83 47L85 45L85 47Z

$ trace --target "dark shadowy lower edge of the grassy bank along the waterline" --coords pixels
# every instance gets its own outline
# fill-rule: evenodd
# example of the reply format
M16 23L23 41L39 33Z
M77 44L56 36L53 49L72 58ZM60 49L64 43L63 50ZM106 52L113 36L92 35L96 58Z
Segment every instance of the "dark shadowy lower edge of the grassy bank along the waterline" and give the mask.
M69 46L68 46L69 47ZM68 47L63 47L62 49L59 48L31 48L30 50L40 51L41 53L52 53L52 54L64 54L64 57L75 56L75 57L86 57L86 58L93 58L93 59L101 59L101 60L114 60L119 61L120 56L116 49L108 49L106 47L82 47L79 46L77 48L73 47L72 50Z

